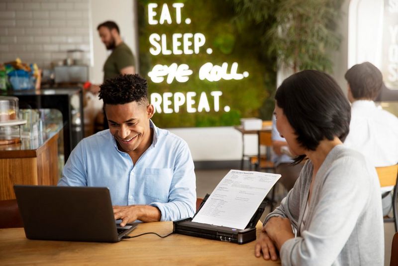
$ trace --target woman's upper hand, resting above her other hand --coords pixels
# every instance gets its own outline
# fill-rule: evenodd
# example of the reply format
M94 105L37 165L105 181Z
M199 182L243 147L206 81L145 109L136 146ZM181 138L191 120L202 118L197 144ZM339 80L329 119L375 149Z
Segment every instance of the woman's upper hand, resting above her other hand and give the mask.
M266 232L271 240L275 242L278 250L281 250L286 241L295 237L290 220L282 217L270 218L263 227L263 232Z

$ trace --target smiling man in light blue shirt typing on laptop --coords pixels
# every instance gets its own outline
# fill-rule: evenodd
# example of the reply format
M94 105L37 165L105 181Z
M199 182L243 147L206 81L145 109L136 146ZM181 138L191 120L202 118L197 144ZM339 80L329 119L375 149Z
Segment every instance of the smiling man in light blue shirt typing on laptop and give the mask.
M137 74L117 76L100 88L109 130L78 143L58 185L108 187L121 226L192 217L196 178L191 152L183 139L150 120L154 108L146 80Z

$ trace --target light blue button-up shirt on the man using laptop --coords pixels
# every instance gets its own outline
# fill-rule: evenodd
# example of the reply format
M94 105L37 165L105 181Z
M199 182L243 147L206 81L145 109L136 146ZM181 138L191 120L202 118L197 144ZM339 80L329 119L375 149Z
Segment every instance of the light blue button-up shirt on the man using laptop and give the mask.
M133 164L104 130L84 138L71 152L59 186L108 187L112 205L151 205L161 221L192 217L196 177L187 142L152 121L153 142Z

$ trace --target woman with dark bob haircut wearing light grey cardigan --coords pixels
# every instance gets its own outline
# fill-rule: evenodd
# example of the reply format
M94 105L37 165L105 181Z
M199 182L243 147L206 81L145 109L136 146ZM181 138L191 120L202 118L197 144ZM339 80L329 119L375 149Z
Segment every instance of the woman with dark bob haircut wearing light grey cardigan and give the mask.
M282 265L384 265L380 184L364 156L343 144L351 108L340 87L304 70L282 83L275 100L277 129L295 163L308 160L266 217L255 256L277 260L278 250Z

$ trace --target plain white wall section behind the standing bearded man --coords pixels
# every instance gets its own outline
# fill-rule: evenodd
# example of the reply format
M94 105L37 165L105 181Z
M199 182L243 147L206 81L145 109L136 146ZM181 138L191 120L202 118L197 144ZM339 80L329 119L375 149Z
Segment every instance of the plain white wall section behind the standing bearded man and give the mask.
M137 33L135 32L135 19L133 0L90 0L90 35L92 47L92 62L90 67L90 80L94 84L103 81L102 67L109 51L101 42L97 26L106 21L113 20L119 26L123 41L131 48L137 59L138 47L136 45Z

